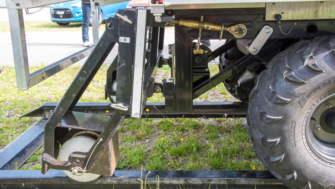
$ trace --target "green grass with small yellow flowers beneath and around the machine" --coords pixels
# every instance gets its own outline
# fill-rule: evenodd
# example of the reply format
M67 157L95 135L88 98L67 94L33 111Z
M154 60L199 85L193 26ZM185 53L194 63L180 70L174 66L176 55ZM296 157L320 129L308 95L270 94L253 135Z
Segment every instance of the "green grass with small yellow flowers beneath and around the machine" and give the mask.
M42 66L41 66L42 67ZM30 67L35 71L41 67ZM45 102L58 102L80 66L72 65L59 74L24 91L16 89L14 67L0 74L0 148L28 129L39 117L18 117ZM103 65L79 102L107 102L104 85L108 65ZM210 65L213 74L217 65ZM169 76L169 67L158 78ZM195 101L232 101L235 98L220 84ZM163 101L155 94L149 101ZM235 99L236 101L236 99ZM150 110L149 110L150 111ZM127 119L119 129L118 170L265 170L254 153L245 119ZM19 169L41 169L38 150Z

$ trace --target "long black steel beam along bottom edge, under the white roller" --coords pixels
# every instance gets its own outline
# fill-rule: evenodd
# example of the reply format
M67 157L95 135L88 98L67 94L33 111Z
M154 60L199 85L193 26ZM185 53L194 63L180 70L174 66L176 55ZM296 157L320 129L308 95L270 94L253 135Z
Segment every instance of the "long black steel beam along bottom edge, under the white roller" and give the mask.
M159 177L159 178L158 178ZM68 178L60 170L0 171L0 188L286 188L268 171L115 171L88 183Z

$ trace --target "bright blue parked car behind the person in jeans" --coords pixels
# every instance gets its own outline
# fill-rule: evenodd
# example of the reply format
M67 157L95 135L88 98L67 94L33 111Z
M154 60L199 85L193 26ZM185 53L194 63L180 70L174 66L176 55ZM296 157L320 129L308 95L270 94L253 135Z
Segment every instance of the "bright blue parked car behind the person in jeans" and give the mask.
M115 15L119 9L127 7L129 1L105 5L100 7L100 21L99 24L109 17ZM51 21L56 22L60 26L69 25L70 22L82 22L81 0L68 1L57 3L50 6ZM89 22L92 26L92 19Z

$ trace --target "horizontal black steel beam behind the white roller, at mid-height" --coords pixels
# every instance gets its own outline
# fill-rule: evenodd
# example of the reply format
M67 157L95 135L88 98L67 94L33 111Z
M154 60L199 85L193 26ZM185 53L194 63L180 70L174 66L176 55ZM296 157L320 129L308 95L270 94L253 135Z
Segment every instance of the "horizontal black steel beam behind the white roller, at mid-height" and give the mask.
M58 103L45 103L41 107L28 112L23 116L43 117L46 113L56 108ZM142 114L142 118L162 117L246 117L248 114L248 103L245 102L193 102L192 111L165 111L164 102L147 102L144 109L149 109ZM109 102L79 102L73 111L112 115L115 111ZM226 115L225 115L226 114ZM127 116L129 117L129 115Z

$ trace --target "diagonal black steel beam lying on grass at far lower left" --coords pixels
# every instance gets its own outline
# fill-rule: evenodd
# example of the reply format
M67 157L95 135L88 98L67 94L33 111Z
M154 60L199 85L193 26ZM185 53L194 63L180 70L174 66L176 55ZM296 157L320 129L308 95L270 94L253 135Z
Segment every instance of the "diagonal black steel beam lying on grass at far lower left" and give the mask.
M44 125L40 120L0 151L0 170L11 170L21 165L43 144ZM17 165L15 166L15 163Z

